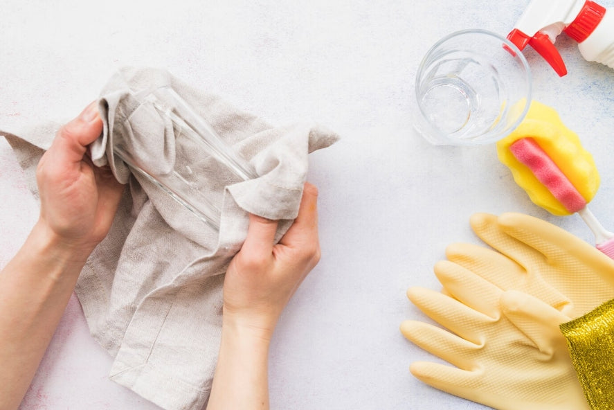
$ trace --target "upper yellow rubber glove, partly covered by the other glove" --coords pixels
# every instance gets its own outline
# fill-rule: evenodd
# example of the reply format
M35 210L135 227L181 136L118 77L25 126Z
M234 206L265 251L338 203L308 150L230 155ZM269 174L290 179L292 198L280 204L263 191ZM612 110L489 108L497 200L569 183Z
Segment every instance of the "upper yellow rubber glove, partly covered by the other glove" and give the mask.
M532 294L571 318L614 298L614 260L553 224L521 213L499 217L481 213L471 217L471 227L480 239L516 266L491 269L477 252L454 245L446 256L501 289ZM571 304L559 305L542 294L544 282L565 295Z

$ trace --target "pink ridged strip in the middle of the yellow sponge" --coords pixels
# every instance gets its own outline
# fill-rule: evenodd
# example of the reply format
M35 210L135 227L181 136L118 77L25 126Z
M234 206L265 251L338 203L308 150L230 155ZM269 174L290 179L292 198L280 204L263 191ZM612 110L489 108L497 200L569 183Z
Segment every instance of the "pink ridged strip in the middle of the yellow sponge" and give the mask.
M586 200L561 169L532 138L522 138L509 146L514 157L527 166L570 213L580 211Z

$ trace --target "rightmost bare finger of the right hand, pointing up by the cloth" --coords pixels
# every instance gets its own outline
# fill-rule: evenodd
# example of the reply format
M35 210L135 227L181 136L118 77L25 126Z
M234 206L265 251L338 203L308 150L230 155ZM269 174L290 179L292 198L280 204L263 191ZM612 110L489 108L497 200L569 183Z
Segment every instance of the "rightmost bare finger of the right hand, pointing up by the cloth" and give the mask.
M280 244L301 246L318 242L318 188L309 182L303 186L298 215Z

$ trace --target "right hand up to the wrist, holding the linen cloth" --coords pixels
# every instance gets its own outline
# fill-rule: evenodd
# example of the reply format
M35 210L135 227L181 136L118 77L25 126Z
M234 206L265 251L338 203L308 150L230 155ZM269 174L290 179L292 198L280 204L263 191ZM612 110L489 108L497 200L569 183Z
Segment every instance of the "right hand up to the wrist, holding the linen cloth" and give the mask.
M224 279L224 321L272 335L285 305L320 260L318 190L307 183L294 224L273 245L278 222L250 215L243 247Z

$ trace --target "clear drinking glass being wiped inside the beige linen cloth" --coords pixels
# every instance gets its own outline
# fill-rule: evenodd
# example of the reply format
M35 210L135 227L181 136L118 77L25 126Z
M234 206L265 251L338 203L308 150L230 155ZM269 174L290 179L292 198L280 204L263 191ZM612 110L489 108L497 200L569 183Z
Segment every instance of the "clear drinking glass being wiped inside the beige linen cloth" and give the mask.
M253 166L233 150L195 110L171 87L133 94L138 106L123 124L124 133L132 138L114 141L114 154L133 172L149 179L177 202L186 206L210 227L219 231L221 210L210 195L204 175L203 160L213 157L235 175L235 181L257 178ZM138 119L135 117L138 116ZM139 136L148 123L166 124L163 138ZM141 128L145 126L145 128ZM171 139L172 141L164 141ZM142 140L142 141L141 141ZM161 143L164 141L164 143ZM155 145L150 148L149 145ZM162 146L172 146L161 159L156 155ZM153 152L150 154L148 152ZM213 176L215 178L215 176Z

